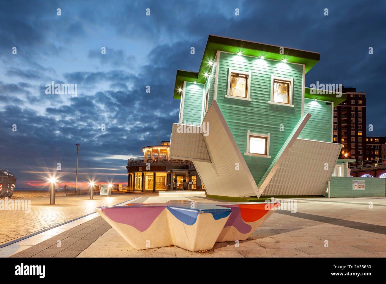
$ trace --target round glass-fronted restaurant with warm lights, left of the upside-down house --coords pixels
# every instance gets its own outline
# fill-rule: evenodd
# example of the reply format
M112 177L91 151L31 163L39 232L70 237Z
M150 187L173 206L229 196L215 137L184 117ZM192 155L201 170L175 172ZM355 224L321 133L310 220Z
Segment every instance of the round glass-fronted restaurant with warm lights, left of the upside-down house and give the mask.
M130 191L204 190L189 160L169 157L170 141L142 148L143 156L127 161ZM185 181L185 182L184 182Z

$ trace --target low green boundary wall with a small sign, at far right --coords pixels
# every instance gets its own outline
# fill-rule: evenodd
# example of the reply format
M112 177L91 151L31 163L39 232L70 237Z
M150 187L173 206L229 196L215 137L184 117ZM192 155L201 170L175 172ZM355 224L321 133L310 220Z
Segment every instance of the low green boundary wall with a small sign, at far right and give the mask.
M353 190L353 180L364 180L365 190ZM376 177L331 177L330 197L386 196L386 179Z

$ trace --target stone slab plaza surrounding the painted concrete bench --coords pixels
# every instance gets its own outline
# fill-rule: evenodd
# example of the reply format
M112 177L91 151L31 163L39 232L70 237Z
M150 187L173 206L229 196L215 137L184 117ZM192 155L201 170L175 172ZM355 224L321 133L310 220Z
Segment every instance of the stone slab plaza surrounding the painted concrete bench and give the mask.
M130 197L135 196L162 202L154 194ZM121 197L113 198L111 203L120 202ZM92 214L78 224L65 225L68 228L36 236L33 242L14 244L12 257L386 257L386 197L296 200L296 213L277 210L248 240L216 243L208 252L178 247L135 250L98 214Z

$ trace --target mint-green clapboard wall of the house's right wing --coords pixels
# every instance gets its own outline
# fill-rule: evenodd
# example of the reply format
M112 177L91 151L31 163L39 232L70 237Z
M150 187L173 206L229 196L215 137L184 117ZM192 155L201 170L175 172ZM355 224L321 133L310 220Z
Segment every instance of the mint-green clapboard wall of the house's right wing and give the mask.
M304 113L311 118L299 138L332 142L332 107L324 101L304 99Z

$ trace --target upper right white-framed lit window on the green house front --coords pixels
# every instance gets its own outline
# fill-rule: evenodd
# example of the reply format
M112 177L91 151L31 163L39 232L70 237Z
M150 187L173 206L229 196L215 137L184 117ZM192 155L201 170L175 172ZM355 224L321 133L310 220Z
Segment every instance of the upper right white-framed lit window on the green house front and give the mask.
M292 106L293 78L271 77L271 103Z

